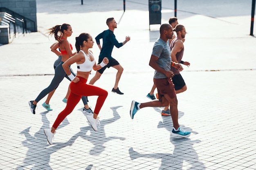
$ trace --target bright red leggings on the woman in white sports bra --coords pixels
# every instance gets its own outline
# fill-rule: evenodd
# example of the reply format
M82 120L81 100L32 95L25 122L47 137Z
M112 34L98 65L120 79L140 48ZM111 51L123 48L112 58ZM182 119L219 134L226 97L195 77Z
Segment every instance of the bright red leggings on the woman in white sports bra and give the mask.
M65 119L65 117L67 117L67 115L69 115L74 110L75 106L78 104L82 96L99 96L94 109L94 113L97 115L99 114L99 111L101 110L101 107L103 106L108 96L108 92L106 90L103 90L102 88L93 86L91 84L86 84L86 82L87 79L79 77L79 82L70 83L71 92L67 99L67 106L60 114L58 114L58 117L52 127L54 127L55 129L58 128L58 126Z

